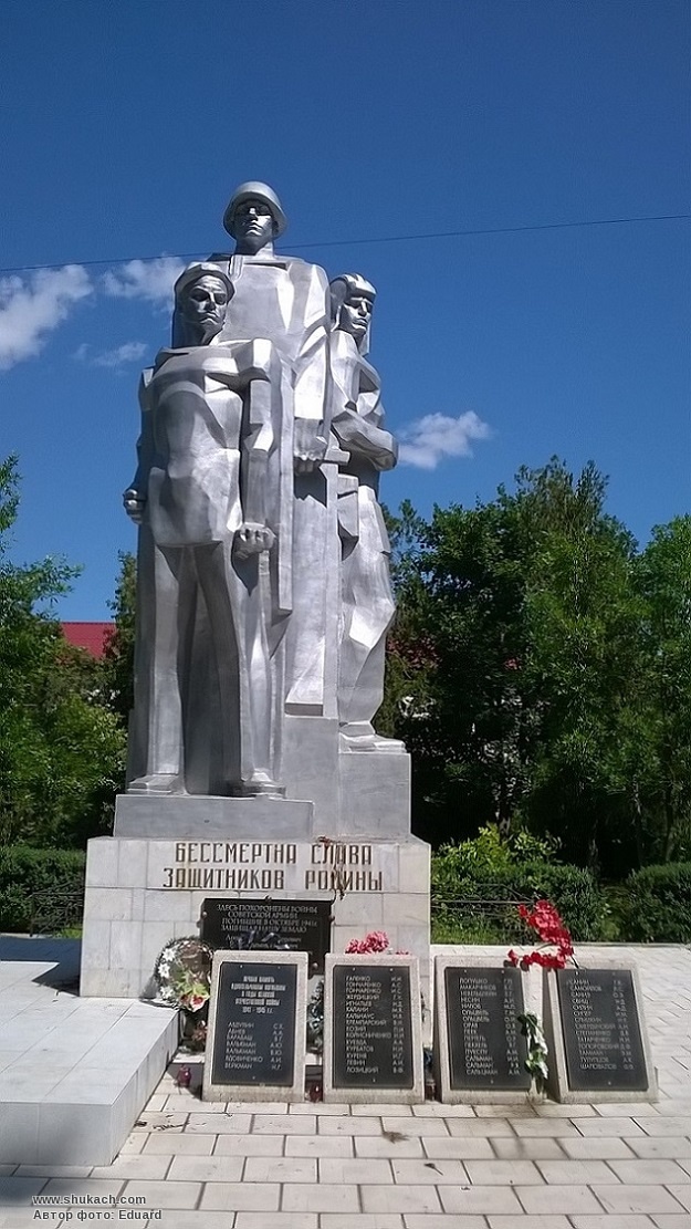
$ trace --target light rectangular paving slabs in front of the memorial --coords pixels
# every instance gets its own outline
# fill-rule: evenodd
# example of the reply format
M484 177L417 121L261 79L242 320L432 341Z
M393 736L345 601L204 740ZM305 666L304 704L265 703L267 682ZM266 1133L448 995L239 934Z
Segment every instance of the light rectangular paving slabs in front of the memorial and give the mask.
M0 1166L0 1229L691 1229L691 949L614 950L655 1105L203 1104L173 1066L112 1165Z

